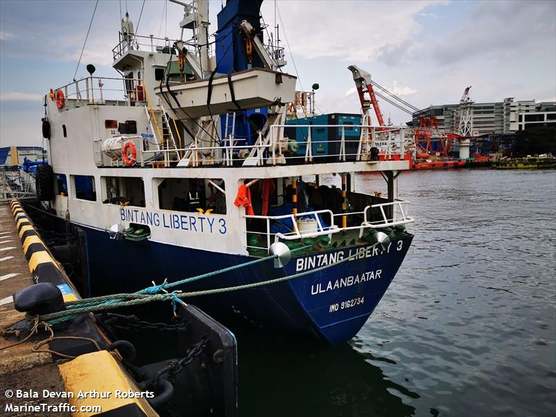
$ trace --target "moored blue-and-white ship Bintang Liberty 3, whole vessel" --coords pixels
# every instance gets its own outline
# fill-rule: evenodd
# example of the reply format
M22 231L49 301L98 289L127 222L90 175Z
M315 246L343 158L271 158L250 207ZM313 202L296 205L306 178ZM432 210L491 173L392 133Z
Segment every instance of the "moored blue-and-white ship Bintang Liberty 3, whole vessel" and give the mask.
M347 341L413 239L398 174L414 131L364 117L288 123L296 76L283 71L277 36L263 37L262 1L227 1L214 40L208 1L174 3L193 37L138 35L126 14L113 49L121 76L87 65L88 76L44 97L52 157L38 166L38 199L60 228L85 232L82 293L205 275L179 290L218 290L194 303L224 324L237 317ZM321 140L326 129L335 130ZM378 144L389 151L379 156ZM356 188L361 172L382 173L387 195ZM338 186L325 185L332 176ZM272 245L291 261L266 260Z

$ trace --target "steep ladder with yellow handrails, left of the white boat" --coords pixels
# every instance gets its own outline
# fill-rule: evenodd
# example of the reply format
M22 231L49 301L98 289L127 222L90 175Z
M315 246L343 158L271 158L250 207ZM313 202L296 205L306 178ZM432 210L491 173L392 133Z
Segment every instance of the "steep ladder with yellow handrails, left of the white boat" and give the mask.
M179 161L180 159L179 151L174 139L174 132L170 126L170 120L167 117L164 106L162 106L162 104L158 107L152 106L144 80L142 81L142 85L143 91L145 92L145 98L147 99L145 104L145 114L147 115L147 120L149 121L152 134L158 143L158 149L164 151L164 165L167 166L170 161ZM178 140L181 143L181 135L179 134L176 121L172 120L172 124L174 125L174 131L176 131Z

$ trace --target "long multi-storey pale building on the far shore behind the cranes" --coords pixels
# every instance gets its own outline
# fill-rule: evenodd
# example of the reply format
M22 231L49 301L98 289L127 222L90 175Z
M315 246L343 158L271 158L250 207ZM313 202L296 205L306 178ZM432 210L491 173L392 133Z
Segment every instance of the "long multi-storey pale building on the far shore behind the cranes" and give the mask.
M556 127L556 101L514 101L513 97L493 103L473 103L473 136L514 133L536 126ZM429 106L413 113L414 126L419 117L434 115L439 129L457 131L456 111L459 104Z

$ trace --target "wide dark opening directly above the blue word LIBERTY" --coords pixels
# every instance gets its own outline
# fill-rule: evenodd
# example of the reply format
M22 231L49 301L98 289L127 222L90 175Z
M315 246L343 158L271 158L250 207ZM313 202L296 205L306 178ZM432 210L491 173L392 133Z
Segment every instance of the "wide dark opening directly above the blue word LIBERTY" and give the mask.
M222 179L166 178L158 186L158 206L163 210L226 214Z

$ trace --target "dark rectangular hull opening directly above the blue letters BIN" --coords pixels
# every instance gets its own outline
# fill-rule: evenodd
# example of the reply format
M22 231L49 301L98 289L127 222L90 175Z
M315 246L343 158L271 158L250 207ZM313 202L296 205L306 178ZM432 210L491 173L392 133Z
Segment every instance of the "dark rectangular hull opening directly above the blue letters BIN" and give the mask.
M102 202L145 207L145 183L137 177L101 177Z

